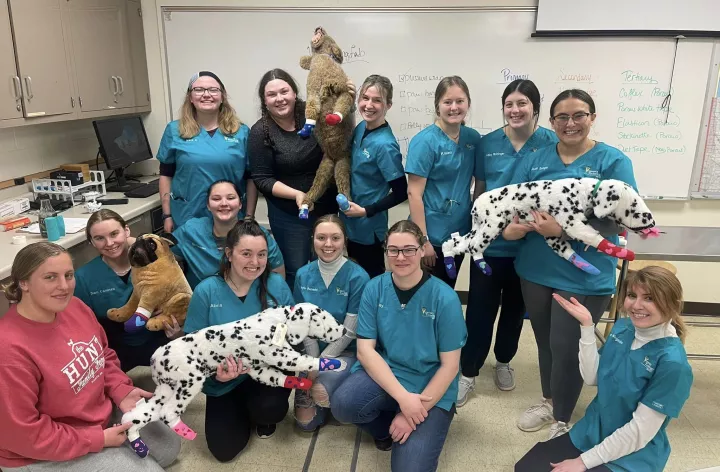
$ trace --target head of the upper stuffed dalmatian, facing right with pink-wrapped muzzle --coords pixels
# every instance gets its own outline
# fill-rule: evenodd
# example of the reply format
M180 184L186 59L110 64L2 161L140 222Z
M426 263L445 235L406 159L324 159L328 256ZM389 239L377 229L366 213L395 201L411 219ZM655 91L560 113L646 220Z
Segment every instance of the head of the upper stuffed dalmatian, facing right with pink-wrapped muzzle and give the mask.
M593 198L593 211L598 218L610 218L617 224L640 234L654 235L655 220L640 195L619 180L603 180Z

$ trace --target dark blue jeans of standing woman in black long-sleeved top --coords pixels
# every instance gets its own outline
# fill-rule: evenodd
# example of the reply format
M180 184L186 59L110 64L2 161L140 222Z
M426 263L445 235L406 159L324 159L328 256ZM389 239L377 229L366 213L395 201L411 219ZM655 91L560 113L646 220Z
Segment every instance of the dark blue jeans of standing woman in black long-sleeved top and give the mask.
M312 227L317 220L310 213L310 218L301 220L298 214L289 214L266 200L270 230L285 260L285 280L290 290L295 285L295 274L300 267L315 259L312 250Z

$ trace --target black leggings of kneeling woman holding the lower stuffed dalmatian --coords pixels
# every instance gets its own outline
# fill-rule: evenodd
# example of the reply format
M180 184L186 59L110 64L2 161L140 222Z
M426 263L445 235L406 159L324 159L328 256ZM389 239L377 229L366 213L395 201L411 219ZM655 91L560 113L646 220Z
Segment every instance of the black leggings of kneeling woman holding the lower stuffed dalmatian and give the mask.
M205 437L220 462L231 461L245 449L252 425L277 424L288 411L289 388L268 387L251 378L219 397L207 396Z

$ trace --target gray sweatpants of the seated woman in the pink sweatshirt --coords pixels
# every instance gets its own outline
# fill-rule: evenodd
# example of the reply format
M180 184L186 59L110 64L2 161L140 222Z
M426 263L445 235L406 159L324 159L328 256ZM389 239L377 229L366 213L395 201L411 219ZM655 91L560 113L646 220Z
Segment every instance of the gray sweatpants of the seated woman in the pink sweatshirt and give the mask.
M122 415L117 408L113 412L111 423L119 423ZM180 453L180 436L164 423L150 423L140 431L150 454L141 459L125 442L120 447L106 447L100 452L78 457L77 459L50 462L42 461L22 467L3 467L3 472L162 472L175 462Z

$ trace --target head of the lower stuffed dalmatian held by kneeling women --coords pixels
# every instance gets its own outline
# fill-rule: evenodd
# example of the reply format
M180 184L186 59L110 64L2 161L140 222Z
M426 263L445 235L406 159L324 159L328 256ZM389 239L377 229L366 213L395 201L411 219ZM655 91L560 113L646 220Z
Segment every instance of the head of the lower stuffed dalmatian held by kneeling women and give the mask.
M288 310L286 339L292 345L299 344L307 337L331 343L345 334L343 325L312 303L298 303Z

